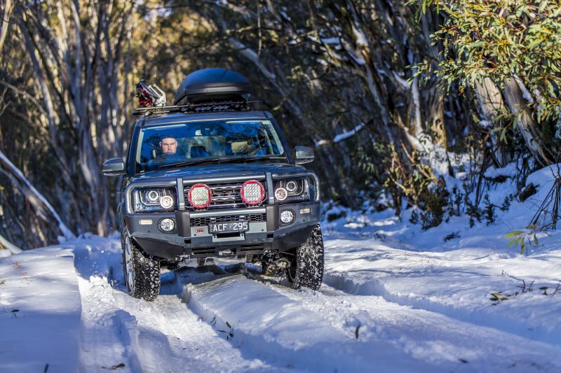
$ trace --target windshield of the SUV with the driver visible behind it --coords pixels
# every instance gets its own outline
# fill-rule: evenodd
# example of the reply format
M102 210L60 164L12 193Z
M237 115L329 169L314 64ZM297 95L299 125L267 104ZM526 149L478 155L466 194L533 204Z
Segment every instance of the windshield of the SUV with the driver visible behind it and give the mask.
M205 161L284 157L269 120L205 120L140 129L136 170Z

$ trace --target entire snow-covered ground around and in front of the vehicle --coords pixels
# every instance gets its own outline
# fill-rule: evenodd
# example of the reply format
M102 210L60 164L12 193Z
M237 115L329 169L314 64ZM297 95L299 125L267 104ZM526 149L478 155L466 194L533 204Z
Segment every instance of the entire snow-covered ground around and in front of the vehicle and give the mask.
M1 258L0 372L561 372L561 233L527 255L505 239L550 176L473 228L332 209L319 291L224 264L165 273L144 302L124 293L119 240L88 235Z

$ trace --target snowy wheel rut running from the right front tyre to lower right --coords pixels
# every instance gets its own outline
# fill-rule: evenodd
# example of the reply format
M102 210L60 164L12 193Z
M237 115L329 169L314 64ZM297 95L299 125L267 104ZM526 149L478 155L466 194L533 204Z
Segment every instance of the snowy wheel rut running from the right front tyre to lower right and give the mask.
M506 332L471 325L445 315L349 295L328 286L318 291L271 288L324 317L349 338L387 342L435 371L559 372L558 350ZM358 327L358 329L357 329ZM466 362L466 363L464 363Z

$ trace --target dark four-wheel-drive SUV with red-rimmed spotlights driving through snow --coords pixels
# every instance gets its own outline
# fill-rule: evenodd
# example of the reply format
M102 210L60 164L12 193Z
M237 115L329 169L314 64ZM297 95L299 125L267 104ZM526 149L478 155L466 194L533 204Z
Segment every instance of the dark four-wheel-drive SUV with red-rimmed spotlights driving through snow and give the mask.
M293 286L323 278L319 182L300 164L313 150L288 150L270 113L250 109L247 80L234 71L191 73L175 106L140 109L126 162L107 160L118 187L128 293L154 300L161 266L238 258L285 268Z

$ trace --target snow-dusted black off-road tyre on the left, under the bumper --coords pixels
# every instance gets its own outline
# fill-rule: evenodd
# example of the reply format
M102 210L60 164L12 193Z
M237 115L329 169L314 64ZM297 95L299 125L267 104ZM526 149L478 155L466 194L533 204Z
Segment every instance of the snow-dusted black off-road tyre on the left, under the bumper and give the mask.
M144 253L128 235L121 240L123 245L123 272L127 293L149 302L160 293L160 261ZM132 272L127 269L127 244L129 245Z

